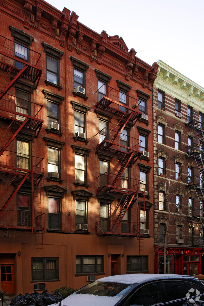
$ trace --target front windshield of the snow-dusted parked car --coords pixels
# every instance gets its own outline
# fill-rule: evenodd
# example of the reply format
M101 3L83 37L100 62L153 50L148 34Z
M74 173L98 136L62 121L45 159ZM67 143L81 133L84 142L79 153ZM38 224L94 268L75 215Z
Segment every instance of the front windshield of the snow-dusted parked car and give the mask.
M95 281L79 289L76 293L115 297L124 295L132 287L134 287L134 285Z

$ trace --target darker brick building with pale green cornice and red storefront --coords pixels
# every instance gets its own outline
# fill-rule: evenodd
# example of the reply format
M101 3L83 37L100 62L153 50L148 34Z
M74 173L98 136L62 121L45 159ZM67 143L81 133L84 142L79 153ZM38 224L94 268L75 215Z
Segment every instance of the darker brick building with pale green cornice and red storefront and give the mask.
M153 89L155 273L201 274L204 89L162 61Z

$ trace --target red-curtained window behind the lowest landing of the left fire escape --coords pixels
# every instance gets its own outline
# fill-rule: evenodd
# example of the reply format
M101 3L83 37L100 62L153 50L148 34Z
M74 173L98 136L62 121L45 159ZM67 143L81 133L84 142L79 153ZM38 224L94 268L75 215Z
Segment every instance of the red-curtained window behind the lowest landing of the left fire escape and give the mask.
M17 225L31 226L31 201L30 194L17 193Z

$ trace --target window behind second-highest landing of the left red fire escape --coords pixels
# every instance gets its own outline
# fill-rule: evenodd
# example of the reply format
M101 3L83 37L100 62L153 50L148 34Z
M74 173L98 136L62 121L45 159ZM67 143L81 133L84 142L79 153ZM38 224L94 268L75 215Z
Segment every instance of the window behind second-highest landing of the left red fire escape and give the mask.
M15 92L16 92L16 98L15 98L16 111L21 114L30 115L30 103L29 103L30 94L19 89L16 89ZM17 115L16 119L24 121L25 117Z

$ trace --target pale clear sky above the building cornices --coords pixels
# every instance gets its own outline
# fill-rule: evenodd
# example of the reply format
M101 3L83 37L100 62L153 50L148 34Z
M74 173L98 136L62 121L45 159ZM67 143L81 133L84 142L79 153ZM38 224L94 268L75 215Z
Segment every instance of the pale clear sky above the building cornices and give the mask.
M152 65L162 60L204 88L203 0L48 0L99 34L119 35Z

